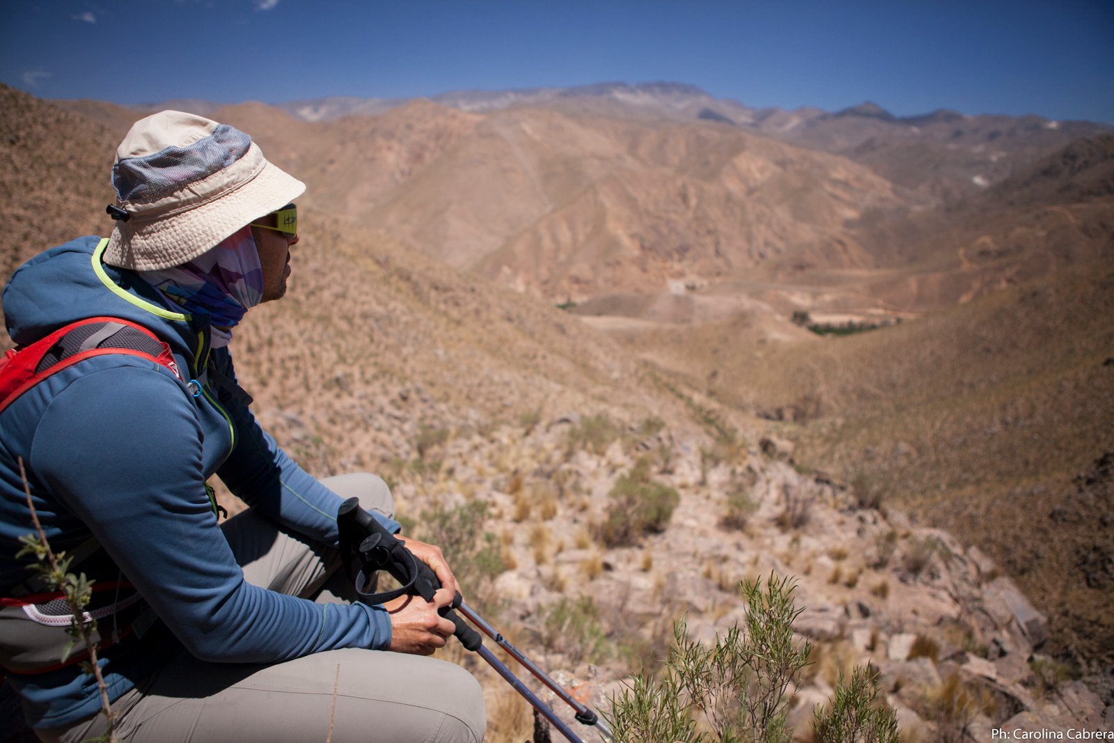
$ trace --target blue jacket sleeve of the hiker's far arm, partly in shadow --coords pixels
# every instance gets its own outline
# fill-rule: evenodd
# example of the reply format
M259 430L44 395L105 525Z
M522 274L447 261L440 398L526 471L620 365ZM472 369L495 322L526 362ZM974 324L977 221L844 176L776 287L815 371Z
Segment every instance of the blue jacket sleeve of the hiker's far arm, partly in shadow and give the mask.
M231 355L226 350L214 355L219 374L235 384ZM291 459L235 393L222 390L219 399L236 430L236 446L217 470L221 480L252 508L311 539L336 546L340 496ZM399 531L393 519L374 516L392 532Z

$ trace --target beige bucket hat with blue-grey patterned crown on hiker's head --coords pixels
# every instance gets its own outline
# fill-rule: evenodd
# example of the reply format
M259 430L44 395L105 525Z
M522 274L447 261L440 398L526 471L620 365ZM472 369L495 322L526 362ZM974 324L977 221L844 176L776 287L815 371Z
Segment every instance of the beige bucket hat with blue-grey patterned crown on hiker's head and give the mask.
M105 263L136 271L186 263L305 190L240 129L169 110L133 125L116 150L113 187L117 222Z

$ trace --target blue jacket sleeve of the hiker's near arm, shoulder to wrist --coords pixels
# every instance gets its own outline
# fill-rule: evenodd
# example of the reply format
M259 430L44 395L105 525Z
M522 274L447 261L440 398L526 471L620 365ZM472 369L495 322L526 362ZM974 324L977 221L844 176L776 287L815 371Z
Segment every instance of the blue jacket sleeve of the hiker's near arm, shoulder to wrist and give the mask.
M197 657L266 663L390 643L379 608L317 605L244 580L205 492L193 402L158 369L116 364L70 381L30 454L42 486Z

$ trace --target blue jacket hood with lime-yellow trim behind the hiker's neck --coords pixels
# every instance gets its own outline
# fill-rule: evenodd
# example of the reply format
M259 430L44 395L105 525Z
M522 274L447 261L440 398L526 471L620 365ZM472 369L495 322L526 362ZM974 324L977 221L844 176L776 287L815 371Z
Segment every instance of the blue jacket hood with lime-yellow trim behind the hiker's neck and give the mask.
M107 241L78 237L35 256L3 290L4 325L18 345L33 343L59 327L105 315L150 329L184 355L193 355L197 332L208 317L166 309L157 291L135 272L105 265Z

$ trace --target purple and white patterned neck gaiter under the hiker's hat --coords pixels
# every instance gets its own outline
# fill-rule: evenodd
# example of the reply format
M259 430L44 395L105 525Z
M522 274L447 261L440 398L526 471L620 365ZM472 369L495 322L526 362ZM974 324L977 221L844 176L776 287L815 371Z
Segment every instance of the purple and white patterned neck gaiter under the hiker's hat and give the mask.
M138 273L186 312L207 313L214 349L228 345L232 329L263 299L263 266L250 226L188 263Z

